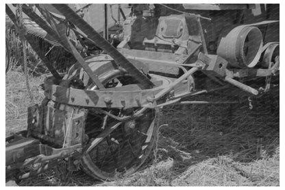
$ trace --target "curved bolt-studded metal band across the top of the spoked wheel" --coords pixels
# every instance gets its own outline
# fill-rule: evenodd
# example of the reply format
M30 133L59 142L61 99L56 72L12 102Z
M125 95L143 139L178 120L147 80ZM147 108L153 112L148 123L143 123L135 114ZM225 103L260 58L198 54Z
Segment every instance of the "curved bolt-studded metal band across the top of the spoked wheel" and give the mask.
M88 91L46 83L45 96L55 102L73 106L99 108L138 107L147 104L149 97L153 97L170 83L166 78L160 77L159 79L162 80L160 86L140 91L115 91L114 89L111 91ZM106 99L110 99L110 101L106 102Z

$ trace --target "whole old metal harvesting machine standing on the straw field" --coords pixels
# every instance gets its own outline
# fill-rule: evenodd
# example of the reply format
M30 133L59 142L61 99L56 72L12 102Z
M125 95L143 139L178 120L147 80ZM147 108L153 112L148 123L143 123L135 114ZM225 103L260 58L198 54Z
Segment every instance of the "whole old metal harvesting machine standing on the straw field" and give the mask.
M116 19L101 5L104 37L90 16L99 5L76 6L21 4L14 14L6 5L52 74L45 99L28 108L27 130L6 138L7 176L28 178L62 159L99 180L133 174L152 154L163 106L231 104L194 98L222 89L251 97L269 91L273 77L278 84L279 5L134 4L127 16L116 5ZM77 62L58 73L35 36Z

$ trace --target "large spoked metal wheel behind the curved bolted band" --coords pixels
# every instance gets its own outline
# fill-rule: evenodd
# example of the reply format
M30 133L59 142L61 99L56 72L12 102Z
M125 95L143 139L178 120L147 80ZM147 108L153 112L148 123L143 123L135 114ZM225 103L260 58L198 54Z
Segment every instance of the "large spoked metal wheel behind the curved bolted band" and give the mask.
M100 80L106 88L136 83L131 75L119 70L104 74ZM86 89L95 90L97 86L90 84ZM116 116L129 116L140 109L109 109L107 111ZM100 133L101 127L108 128L119 122L111 117L106 119L106 115L93 115L90 118L92 119L89 123L92 124L86 125L86 134L90 142ZM86 123L88 123L88 118ZM156 132L156 111L147 109L140 117L121 123L90 152L85 152L82 157L82 169L99 180L114 180L118 176L132 174L149 156L154 141L156 141Z

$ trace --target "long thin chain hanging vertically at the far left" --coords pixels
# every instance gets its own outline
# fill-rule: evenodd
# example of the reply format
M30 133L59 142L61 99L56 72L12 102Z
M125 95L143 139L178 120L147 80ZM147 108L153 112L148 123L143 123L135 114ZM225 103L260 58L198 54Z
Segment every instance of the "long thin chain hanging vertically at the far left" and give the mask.
M23 64L24 64L24 75L25 75L25 81L26 81L26 86L27 86L27 92L29 93L29 98L31 99L31 101L33 101L33 95L31 92L31 88L29 88L29 77L28 77L28 73L27 73L27 46L25 43L25 38L24 38L24 34L25 34L25 28L23 27L23 10L22 10L22 4L18 4L17 8L16 8L16 14L17 17L19 19L19 33L20 33L20 38L21 38L21 42L23 45Z

